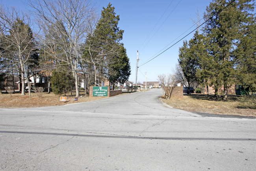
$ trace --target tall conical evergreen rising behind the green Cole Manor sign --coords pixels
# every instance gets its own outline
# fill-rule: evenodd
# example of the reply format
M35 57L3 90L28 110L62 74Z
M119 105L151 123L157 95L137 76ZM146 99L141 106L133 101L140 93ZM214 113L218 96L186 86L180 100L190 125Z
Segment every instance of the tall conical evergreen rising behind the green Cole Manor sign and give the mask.
M106 76L109 81L125 82L130 76L130 63L122 40L123 30L118 27L119 15L114 12L115 7L109 3L103 7L100 20L92 35L89 35L85 44L85 59L91 65L96 76Z

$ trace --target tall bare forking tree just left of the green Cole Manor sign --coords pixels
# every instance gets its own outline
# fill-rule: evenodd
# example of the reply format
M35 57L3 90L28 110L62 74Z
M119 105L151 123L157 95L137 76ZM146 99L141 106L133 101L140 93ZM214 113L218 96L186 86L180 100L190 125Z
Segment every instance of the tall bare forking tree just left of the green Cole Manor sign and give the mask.
M33 8L32 14L37 17L40 27L52 38L63 52L61 58L70 65L75 81L76 97L79 96L79 61L81 44L87 33L87 24L94 15L94 7L90 0L27 0Z

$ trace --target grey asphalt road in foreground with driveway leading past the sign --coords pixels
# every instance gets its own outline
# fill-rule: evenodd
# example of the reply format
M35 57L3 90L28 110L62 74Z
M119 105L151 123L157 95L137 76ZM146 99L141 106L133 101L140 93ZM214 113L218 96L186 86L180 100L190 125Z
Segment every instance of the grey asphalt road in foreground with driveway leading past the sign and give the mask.
M256 119L189 113L160 96L0 109L0 170L256 170Z

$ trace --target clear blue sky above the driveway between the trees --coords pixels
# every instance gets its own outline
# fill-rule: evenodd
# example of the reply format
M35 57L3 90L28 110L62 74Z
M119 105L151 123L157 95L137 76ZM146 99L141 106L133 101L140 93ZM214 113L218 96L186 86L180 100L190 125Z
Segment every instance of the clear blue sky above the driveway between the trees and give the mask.
M21 0L0 0L0 2L23 11L27 8ZM102 7L106 7L109 2L115 7L115 13L120 15L119 28L124 30L122 42L130 58L132 70L129 80L135 82L137 50L141 53L140 66L195 29L195 26L189 29L194 24L191 18L197 18L197 8L202 17L211 0L95 0L95 2L99 15ZM193 33L184 40L190 40L192 36ZM178 39L175 40L176 38ZM147 81L157 81L158 75L171 73L178 62L178 49L182 43L183 40L140 66L138 82L145 81L146 70Z

